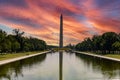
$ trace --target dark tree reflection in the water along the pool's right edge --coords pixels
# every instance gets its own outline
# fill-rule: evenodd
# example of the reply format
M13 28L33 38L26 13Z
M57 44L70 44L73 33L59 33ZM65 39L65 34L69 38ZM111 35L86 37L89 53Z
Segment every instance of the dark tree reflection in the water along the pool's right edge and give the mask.
M86 56L78 53L76 53L76 56L84 62L84 65L87 68L92 67L92 70L94 72L102 72L105 79L112 79L117 74L120 76L120 62Z

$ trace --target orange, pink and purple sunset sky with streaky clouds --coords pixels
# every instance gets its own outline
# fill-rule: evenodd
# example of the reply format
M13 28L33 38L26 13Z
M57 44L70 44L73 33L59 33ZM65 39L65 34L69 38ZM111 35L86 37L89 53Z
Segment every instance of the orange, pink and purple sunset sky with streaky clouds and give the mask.
M0 29L59 44L63 14L64 45L105 32L120 33L120 0L0 0Z

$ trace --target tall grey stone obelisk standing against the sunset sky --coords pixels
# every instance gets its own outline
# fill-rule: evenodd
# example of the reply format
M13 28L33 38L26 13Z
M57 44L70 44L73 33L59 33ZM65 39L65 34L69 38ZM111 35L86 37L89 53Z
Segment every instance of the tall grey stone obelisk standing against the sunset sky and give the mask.
M60 16L60 40L59 40L59 48L63 48L63 16Z

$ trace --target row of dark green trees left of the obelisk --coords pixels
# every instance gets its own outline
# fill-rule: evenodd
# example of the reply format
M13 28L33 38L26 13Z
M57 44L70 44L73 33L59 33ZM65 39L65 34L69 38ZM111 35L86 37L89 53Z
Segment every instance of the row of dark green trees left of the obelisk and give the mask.
M0 53L39 51L46 49L46 42L33 37L24 37L24 32L14 29L7 34L0 29Z

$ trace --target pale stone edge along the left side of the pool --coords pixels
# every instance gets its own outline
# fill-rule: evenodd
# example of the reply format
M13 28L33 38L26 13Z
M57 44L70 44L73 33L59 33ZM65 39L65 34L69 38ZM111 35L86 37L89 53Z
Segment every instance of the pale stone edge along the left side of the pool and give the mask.
M50 51L45 51L45 52L40 52L40 53L36 53L36 54L26 55L26 56L17 57L17 58L8 59L8 60L3 60L3 61L0 61L0 66L11 63L11 62L19 61L19 60L22 60L22 59L27 59L27 58L30 58L30 57L38 56L40 54L45 54L45 53L48 53L48 52L50 52Z

